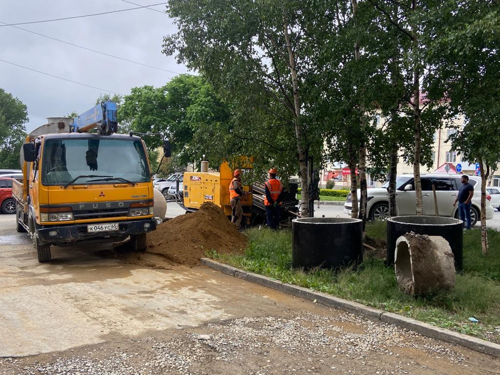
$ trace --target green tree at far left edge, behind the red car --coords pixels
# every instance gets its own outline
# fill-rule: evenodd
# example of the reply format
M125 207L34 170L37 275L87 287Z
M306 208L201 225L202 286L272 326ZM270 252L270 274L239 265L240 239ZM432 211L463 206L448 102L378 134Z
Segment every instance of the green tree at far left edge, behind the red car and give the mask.
M0 88L0 167L17 169L19 149L26 137L27 108Z

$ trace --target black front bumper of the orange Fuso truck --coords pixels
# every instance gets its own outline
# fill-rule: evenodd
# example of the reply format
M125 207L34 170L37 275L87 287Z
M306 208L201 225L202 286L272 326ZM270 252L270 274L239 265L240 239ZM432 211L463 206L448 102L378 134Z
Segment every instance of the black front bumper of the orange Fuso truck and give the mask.
M106 224L108 222L103 222ZM92 223L96 224L96 223ZM65 226L45 226L36 230L40 242L71 243L92 239L102 241L120 240L134 234L147 233L156 229L155 219L119 221L118 230L88 232L87 224L73 224Z

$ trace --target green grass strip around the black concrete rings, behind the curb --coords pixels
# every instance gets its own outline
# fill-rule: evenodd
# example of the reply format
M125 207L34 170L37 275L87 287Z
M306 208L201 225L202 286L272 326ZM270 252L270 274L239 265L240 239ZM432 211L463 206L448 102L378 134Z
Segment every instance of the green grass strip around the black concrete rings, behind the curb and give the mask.
M368 235L385 239L385 224L368 224ZM382 259L365 258L356 269L338 272L291 267L291 232L252 228L246 231L248 248L243 255L209 255L224 263L263 274L283 282L333 294L386 311L400 313L462 333L500 341L497 333L486 334L500 325L500 233L491 233L490 254L482 257L479 230L464 235L464 271L456 276L452 290L413 297L401 292L394 269ZM469 317L480 322L472 323Z

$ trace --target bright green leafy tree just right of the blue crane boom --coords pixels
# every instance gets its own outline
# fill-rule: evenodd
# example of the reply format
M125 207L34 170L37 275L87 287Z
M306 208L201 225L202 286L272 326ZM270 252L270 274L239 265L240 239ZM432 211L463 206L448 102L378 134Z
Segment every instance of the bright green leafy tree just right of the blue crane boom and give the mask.
M118 108L118 121L133 131L160 133L168 138L182 165L205 157L212 165L234 155L228 145L232 130L228 106L201 76L181 74L161 87L133 87ZM149 147L160 144L157 135L144 136Z

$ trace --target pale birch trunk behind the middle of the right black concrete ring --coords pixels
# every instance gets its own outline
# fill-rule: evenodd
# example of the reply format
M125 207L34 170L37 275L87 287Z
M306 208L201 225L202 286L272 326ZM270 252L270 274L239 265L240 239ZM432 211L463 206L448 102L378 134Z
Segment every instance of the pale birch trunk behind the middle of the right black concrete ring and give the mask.
M416 3L413 0L412 10L416 10ZM420 131L420 63L418 53L418 31L414 24L411 25L413 36L413 135L415 148L413 149L413 177L415 180L416 214L423 215L422 184L420 181L420 153L422 147Z

